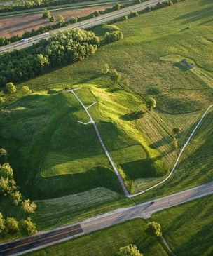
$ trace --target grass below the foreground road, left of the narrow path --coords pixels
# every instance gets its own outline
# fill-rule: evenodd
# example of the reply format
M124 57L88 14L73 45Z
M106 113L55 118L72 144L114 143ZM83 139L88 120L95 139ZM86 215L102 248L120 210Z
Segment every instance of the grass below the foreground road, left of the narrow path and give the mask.
M133 243L137 245L138 250L144 255L167 255L162 243L156 238L144 240L146 238L145 228L145 220L132 220L30 254L57 255L60 253L60 255L74 256L113 256L116 255L121 246Z

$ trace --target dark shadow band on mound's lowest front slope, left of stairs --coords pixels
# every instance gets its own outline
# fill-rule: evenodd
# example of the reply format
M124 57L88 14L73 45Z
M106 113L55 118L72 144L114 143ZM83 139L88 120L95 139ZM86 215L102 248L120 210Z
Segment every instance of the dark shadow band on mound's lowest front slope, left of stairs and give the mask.
M96 166L84 173L58 175L41 178L39 182L31 180L25 187L25 193L35 199L50 199L70 194L78 194L97 187L105 187L119 194L123 189L116 174L105 166Z

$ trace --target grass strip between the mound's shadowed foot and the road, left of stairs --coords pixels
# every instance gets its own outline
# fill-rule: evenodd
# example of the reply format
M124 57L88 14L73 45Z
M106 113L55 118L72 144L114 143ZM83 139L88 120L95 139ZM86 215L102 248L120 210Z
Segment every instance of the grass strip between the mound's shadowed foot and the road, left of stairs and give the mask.
M132 205L128 198L104 187L71 196L40 200L36 201L36 204L38 208L32 219L39 230L52 229Z

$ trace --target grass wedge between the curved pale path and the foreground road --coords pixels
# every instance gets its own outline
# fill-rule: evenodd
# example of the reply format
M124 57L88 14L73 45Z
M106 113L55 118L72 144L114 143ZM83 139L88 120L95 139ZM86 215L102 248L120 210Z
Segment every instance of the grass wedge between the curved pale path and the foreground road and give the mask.
M135 197L134 201L139 203L212 181L212 114L213 110L210 110L200 123L170 179L159 187Z

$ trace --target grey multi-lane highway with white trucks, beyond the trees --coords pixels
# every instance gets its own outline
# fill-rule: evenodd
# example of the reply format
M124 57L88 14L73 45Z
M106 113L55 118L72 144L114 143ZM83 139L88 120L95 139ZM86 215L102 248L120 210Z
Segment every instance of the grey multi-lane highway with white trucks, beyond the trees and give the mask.
M93 27L93 26L100 25L104 22L108 22L109 20L114 20L114 19L120 18L124 15L128 15L128 14L131 13L131 11L141 11L141 10L144 10L145 8L147 8L149 6L155 6L158 2L163 2L163 1L164 0L149 0L149 1L146 1L142 4L136 4L134 6L129 6L127 8L123 8L123 9L118 10L118 11L114 11L114 12L111 12L111 13L100 15L98 17L95 17L95 18L92 18L92 19L89 19L89 20L84 20L82 22L77 22L77 23L69 25L67 27L61 27L60 29L52 30L51 33L57 33L59 30L63 31L63 30L66 30L66 29L73 29L75 27L80 27L82 29L90 28L90 27ZM18 41L18 42L15 42L15 43L11 43L7 46L1 46L0 47L0 53L5 53L5 52L8 52L8 51L13 50L13 49L20 50L20 49L23 49L23 48L27 48L29 46L32 46L33 43L38 43L39 40L48 39L49 37L50 37L50 35L43 36L43 34L39 34L37 36L33 36L32 39L30 39L27 42L20 43Z

